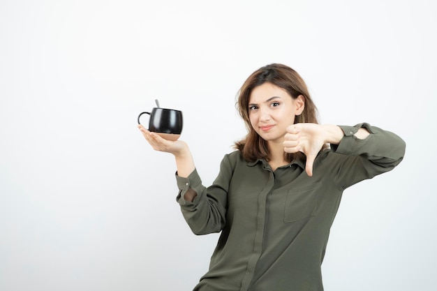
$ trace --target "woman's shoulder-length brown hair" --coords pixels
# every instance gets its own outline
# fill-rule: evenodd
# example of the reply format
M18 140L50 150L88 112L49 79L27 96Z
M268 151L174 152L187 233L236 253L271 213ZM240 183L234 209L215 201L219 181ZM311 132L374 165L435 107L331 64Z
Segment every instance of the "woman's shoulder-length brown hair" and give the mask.
M304 96L304 111L295 117L295 124L304 122L318 124L316 105L314 105L309 95L304 80L295 70L283 64L270 64L255 70L239 89L236 104L237 110L246 124L248 133L244 140L235 142L235 149L239 149L247 161L256 161L258 158L264 158L266 161L269 161L267 142L256 133L249 119L249 98L252 90L264 83L280 87L287 91L293 99L296 99L299 95ZM303 161L305 156L302 152L288 154L284 151L284 158L288 162L291 162L293 159Z

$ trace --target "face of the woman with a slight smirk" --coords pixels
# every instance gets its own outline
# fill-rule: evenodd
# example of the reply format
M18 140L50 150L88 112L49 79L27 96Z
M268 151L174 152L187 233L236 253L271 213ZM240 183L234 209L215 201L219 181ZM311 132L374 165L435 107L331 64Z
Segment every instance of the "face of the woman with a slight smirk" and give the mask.
M293 99L281 87L264 83L249 96L249 119L253 129L267 142L283 142L286 128L304 110L304 98Z

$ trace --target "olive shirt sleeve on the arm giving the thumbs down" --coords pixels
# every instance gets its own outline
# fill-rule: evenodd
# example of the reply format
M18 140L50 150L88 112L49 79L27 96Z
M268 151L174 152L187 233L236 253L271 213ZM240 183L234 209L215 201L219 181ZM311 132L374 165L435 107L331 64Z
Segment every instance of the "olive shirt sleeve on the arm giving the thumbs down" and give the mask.
M388 172L401 163L406 144L398 135L362 123L355 126L339 126L344 136L331 149L339 163L332 163L332 177L339 188L345 189L364 179ZM360 128L370 135L364 140L355 137Z

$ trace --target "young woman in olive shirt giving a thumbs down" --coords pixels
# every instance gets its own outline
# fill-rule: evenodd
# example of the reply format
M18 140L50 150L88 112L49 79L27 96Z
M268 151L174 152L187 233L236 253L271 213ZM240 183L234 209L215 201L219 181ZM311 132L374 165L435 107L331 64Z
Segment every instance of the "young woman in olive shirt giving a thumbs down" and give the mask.
M205 187L188 145L139 126L175 156L179 202L195 234L221 232L199 291L323 290L321 264L343 191L397 166L405 143L369 124L320 125L299 74L282 64L239 91L248 134Z

